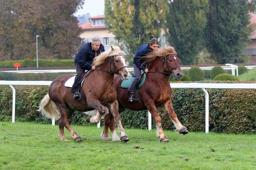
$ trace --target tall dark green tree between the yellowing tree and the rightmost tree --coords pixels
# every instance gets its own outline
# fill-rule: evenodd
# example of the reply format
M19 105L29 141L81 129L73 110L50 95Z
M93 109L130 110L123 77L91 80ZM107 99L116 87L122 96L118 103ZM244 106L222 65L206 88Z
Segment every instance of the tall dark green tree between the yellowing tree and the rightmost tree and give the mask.
M181 64L194 64L206 25L208 0L173 0L166 15L167 40L174 46Z

